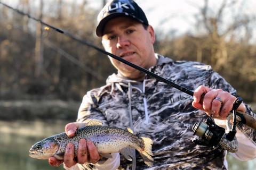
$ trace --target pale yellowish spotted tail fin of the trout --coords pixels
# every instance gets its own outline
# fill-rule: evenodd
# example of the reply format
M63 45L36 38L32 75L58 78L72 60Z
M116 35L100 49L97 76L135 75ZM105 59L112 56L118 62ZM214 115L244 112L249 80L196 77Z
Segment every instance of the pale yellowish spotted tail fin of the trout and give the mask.
M153 141L150 138L141 138L143 145L139 150L139 153L141 157L143 158L145 164L148 166L153 166L154 159L152 158L153 152L152 152L152 145Z

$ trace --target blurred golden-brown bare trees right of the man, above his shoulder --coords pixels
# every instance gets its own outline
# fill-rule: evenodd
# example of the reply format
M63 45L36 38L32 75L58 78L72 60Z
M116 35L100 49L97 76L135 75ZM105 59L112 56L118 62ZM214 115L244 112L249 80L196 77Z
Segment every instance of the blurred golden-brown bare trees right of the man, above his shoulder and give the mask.
M223 0L219 8L210 6L208 0L204 0L202 7L187 2L199 11L195 17L196 32L161 39L157 42L159 52L175 60L193 60L211 65L245 100L255 101L256 45L250 43L255 31L255 14L243 12L243 3L238 4L241 1ZM233 9L235 5L236 8L241 5L237 13ZM228 12L231 16L225 22Z

